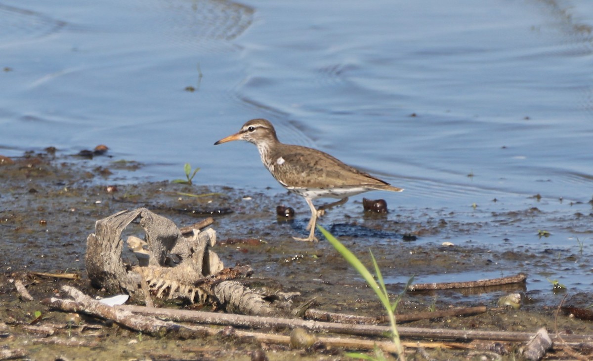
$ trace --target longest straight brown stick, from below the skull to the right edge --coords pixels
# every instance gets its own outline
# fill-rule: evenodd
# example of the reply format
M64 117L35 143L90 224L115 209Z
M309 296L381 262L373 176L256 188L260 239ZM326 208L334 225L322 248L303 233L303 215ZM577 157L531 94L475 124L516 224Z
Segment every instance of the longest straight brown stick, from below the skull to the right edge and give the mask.
M117 308L125 309L136 314L152 315L162 320L178 322L195 322L200 324L234 325L237 327L253 328L296 328L301 327L311 331L326 331L344 333L357 336L384 336L391 332L388 326L353 325L335 322L305 321L298 318L257 317L234 314L221 314L204 311L189 311L186 309L149 308L144 306L123 305ZM447 328L398 327L400 337L436 338L439 340L491 340L527 342L533 333L514 331L480 331L480 330L449 330ZM551 337L554 342L559 338ZM593 347L593 335L563 335L567 342L590 343Z

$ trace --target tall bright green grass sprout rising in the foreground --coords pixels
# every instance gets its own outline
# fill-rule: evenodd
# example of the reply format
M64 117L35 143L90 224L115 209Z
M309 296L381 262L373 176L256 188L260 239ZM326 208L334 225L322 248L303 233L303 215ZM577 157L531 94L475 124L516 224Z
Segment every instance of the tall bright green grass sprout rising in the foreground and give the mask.
M331 235L330 232L326 231L326 229L324 229L322 226L317 226L317 229L319 229L319 231L321 231L324 237L326 237L327 241L329 241L330 244L333 245L334 248L336 248L336 251L338 251L338 253L340 253L340 255L342 255L342 257L348 263L350 263L350 266L354 267L358 271L358 273L361 274L366 284L369 285L371 289L375 291L377 297L379 298L381 304L384 306L385 311L387 312L387 316L391 324L391 337L393 339L393 343L396 346L398 360L405 361L406 357L404 356L404 349L403 346L401 346L400 334L397 331L395 311L397 305L401 301L401 298L406 292L407 287L410 286L410 283L412 283L414 277L411 277L408 280L406 287L404 287L404 290L400 293L400 295L398 295L396 301L394 301L393 304L391 304L389 300L389 293L387 293L387 288L385 287L385 282L383 281L381 270L379 269L377 260L375 259L375 256L372 254L372 251L369 250L369 253L371 254L373 266L375 267L375 276L377 277L377 280L375 280L371 272L369 272L369 270L366 269L364 264L362 264L362 262L356 257L356 255L350 252L350 250L346 248L346 246L343 245L342 242L338 241L337 238L333 237L333 235ZM356 357L358 359L365 360L385 360L384 354L380 349L378 349L378 347L375 347L375 357L371 357L361 353L348 353L347 355L350 357Z

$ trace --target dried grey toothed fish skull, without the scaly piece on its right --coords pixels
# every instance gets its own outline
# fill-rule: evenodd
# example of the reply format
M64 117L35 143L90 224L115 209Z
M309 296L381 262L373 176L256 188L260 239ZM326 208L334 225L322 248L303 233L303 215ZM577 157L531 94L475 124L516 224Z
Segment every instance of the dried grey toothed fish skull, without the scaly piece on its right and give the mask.
M121 234L138 218L146 235L148 259L145 267L130 269L122 259ZM189 237L184 237L173 221L148 209L119 212L97 221L95 233L87 238L88 277L95 287L103 287L110 293L128 293L136 302L145 298L142 283L155 290L157 296L162 296L166 290L170 298L184 297L193 302L196 295L202 299L205 296L193 286L196 280L223 267L218 256L209 250L215 242L213 229L194 230Z

